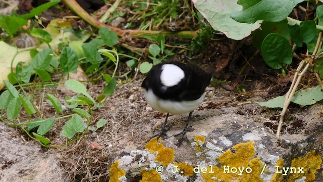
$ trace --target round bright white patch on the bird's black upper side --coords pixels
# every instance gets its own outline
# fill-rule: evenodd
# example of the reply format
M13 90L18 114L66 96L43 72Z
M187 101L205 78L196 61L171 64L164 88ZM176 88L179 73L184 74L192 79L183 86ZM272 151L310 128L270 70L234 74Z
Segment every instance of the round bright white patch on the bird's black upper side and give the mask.
M185 77L184 71L174 64L165 64L161 69L160 81L165 86L177 85Z

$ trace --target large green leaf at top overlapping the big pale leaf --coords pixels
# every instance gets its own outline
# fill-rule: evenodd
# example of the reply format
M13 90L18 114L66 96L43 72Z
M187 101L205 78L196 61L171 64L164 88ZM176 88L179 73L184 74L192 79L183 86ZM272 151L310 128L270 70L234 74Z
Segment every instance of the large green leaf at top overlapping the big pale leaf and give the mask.
M279 22L284 20L293 8L303 0L262 0L243 11L235 11L231 17L241 23L255 23L258 20ZM246 5L245 5L246 6Z

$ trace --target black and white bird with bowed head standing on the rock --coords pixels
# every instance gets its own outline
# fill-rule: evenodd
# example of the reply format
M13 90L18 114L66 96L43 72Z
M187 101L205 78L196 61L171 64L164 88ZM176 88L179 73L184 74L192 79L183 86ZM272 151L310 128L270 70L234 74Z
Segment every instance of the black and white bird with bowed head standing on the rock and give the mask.
M183 135L186 133L192 112L203 102L210 79L211 74L203 69L180 62L158 64L151 68L141 86L145 89L147 103L154 110L167 113L162 132L166 131L169 113L189 113L181 132Z

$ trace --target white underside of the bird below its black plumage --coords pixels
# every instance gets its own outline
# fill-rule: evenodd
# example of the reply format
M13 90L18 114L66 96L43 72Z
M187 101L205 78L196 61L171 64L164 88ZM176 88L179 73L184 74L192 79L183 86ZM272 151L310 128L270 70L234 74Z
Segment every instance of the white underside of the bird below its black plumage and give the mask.
M204 95L194 101L171 101L158 99L151 89L144 91L147 103L154 109L162 113L181 115L193 111L203 102Z

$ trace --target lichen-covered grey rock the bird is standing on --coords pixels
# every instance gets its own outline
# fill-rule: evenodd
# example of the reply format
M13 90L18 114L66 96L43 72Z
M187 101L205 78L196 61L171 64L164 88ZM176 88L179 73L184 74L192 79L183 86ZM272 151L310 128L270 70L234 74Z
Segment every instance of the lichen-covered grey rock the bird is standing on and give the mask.
M110 181L323 180L322 145L315 144L317 138L313 137L323 133L322 123L312 124L319 123L318 117L307 121L306 132L285 132L277 139L264 124L277 121L239 115L237 110L196 112L187 141L180 147L174 135L183 129L186 116L170 117L172 128L165 139L153 138L141 150L123 151L116 157L119 164L113 165L125 175Z

